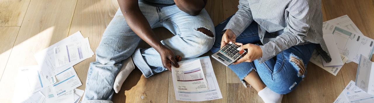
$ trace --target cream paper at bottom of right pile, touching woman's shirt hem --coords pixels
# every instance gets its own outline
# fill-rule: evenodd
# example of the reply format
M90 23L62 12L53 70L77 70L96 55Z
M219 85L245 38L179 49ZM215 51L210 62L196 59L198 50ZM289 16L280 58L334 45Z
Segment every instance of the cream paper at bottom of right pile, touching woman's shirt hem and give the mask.
M348 58L346 56L341 55L341 54L340 54L340 58L343 61L343 63L348 60ZM310 58L309 61L312 62L313 64L316 64L318 67L321 67L322 69L328 71L329 73L331 73L332 75L335 75L335 76L336 76L336 74L338 74L341 67L343 67L343 65L342 66L336 66L336 67L324 67L324 65L322 64L322 61L324 61L324 60L321 58L321 55L319 55L319 53L317 52L316 49L314 49L312 57Z

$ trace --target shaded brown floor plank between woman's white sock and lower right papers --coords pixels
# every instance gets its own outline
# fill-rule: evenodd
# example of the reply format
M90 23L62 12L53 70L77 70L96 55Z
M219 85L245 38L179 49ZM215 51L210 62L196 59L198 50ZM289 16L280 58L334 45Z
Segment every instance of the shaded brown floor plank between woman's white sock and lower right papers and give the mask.
M303 81L288 93L289 103L331 103L344 88L343 75L336 76L309 62Z

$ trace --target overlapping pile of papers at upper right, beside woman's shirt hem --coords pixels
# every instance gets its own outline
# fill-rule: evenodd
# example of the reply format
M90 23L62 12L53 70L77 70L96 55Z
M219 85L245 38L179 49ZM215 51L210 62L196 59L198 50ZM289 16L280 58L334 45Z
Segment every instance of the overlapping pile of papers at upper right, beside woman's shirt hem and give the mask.
M326 63L315 50L310 62L336 75L344 63L359 63L360 55L371 58L374 40L364 36L347 15L324 22L322 29L332 61Z

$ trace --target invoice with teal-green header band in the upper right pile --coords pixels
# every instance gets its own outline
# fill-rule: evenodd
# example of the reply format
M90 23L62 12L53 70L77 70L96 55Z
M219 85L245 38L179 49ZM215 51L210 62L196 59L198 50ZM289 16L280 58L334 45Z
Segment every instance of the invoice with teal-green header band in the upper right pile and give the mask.
M325 23L323 28L325 34L333 34L340 54L348 57L348 62L358 63L360 54L371 58L373 54L373 39L355 32L350 32L332 23Z

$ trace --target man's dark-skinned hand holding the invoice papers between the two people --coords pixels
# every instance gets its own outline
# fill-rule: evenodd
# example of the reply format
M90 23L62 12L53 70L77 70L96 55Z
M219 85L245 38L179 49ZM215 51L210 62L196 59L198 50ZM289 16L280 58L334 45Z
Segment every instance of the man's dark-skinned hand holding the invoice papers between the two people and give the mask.
M174 52L171 51L169 48L162 48L159 51L161 56L162 65L167 68L171 72L171 65L174 67L179 68L178 61L180 61L181 57L178 55L177 58L174 57Z

